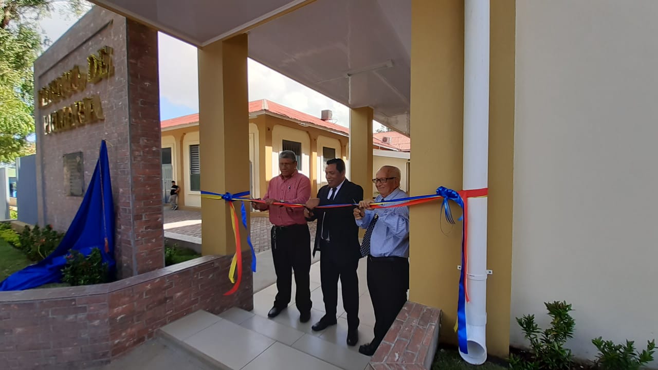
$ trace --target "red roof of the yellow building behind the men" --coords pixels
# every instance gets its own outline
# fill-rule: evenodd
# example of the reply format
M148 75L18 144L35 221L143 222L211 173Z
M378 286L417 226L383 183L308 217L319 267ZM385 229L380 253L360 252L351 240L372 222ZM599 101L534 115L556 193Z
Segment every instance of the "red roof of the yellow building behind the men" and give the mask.
M284 105L274 103L274 101L261 99L261 100L249 102L249 113L257 113L260 111L269 112L274 115L288 117L289 119L299 120L301 122L310 123L314 126L319 126L320 128L349 135L349 128L345 126L341 126L340 124L335 124L332 122L327 122L326 120L321 120L318 117L313 117L312 115L309 115L307 113L296 111L295 109L291 109L289 107L285 107ZM175 119L163 120L160 124L160 127L174 128L176 126L195 124L198 122L199 122L199 113L194 113L193 115L186 115L182 117L176 117ZM384 147L386 149L409 151L411 147L411 139L407 138L402 134L398 134L397 132L383 132L381 134L384 135L380 136L380 134L374 134L372 136L373 145L376 145L378 147ZM384 136L393 137L394 134L399 135L401 137L395 136L395 140L392 140L392 142L390 143L385 143L382 141L382 138L384 138ZM405 138L406 141L403 138ZM401 147L397 146L398 142L401 144Z

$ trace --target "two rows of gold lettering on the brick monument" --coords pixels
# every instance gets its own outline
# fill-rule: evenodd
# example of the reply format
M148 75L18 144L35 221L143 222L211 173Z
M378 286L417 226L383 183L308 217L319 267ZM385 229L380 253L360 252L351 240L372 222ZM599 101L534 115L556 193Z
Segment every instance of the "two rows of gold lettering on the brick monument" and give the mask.
M44 108L59 103L72 97L77 92L84 92L87 88L87 82L97 84L101 80L113 76L112 55L113 49L105 46L99 49L97 55L92 54L87 57L87 72L81 71L80 66L76 65L55 78L39 90L39 106ZM91 97L85 97L49 115L45 115L43 117L43 132L47 135L53 132L72 130L104 119L101 97L91 95Z

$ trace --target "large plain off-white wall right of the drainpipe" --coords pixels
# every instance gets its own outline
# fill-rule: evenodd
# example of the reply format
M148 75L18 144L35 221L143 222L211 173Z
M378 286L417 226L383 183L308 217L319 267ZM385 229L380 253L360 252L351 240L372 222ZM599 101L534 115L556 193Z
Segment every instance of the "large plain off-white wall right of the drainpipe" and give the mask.
M657 20L655 0L517 1L513 345L553 300L576 356L658 337Z

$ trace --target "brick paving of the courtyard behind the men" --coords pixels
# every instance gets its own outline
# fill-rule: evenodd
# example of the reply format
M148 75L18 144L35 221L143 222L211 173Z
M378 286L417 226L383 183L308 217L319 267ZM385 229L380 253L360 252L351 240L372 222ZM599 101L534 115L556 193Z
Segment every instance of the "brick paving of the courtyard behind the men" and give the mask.
M166 228L166 231L201 238L201 211L188 211L183 209L172 211L168 206L164 207L165 227L171 223L184 223L186 221L196 223L194 225ZM311 243L315 240L315 226L315 221L309 223L309 230L311 230ZM251 243L253 244L253 249L256 253L270 250L270 228L272 228L272 224L270 224L270 220L267 217L251 217Z

